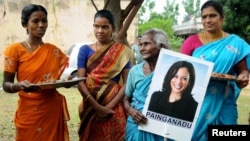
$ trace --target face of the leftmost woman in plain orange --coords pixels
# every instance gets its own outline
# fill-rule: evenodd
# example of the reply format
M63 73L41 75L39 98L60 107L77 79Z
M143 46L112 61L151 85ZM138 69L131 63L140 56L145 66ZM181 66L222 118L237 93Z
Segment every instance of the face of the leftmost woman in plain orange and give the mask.
M28 34L33 37L41 38L44 36L48 27L48 19L44 12L35 11L30 15L29 21L25 28Z

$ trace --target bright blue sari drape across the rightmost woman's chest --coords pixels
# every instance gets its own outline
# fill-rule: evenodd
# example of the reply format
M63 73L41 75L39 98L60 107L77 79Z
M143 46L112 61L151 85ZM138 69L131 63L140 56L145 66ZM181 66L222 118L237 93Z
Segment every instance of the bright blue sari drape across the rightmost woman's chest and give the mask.
M228 73L235 64L250 54L248 47L238 36L230 35L195 49L193 56L213 62L213 72Z

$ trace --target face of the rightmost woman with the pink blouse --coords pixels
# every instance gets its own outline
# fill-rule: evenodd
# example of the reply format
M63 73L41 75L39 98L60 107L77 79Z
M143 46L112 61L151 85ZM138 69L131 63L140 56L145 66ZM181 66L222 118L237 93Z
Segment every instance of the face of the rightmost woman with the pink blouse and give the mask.
M208 32L215 32L222 29L224 17L212 7L207 7L202 10L201 22L203 27Z

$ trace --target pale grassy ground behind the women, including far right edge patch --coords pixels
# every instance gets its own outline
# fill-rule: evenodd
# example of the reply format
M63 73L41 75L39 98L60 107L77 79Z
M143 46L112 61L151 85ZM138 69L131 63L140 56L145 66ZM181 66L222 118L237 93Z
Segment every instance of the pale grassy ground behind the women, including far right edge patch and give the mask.
M0 80L2 81L2 80ZM71 141L78 140L78 104L81 101L81 95L77 88L58 89L67 99L70 121L68 122ZM0 141L14 141L15 128L13 117L17 105L17 94L8 94L0 90ZM250 85L243 89L238 99L239 124L248 124L248 113L250 112ZM230 115L229 115L230 116Z

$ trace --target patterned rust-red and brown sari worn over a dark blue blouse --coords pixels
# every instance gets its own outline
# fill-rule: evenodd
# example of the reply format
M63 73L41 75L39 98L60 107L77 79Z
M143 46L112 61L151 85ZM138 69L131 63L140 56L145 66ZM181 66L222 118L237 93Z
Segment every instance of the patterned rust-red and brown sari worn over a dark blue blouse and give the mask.
M96 51L87 62L86 85L101 105L107 105L118 93L121 85L111 79L122 72L132 51L120 43L110 43ZM103 121L95 110L83 100L79 114L80 141L120 141L125 135L126 112L122 103L116 105L112 117Z

